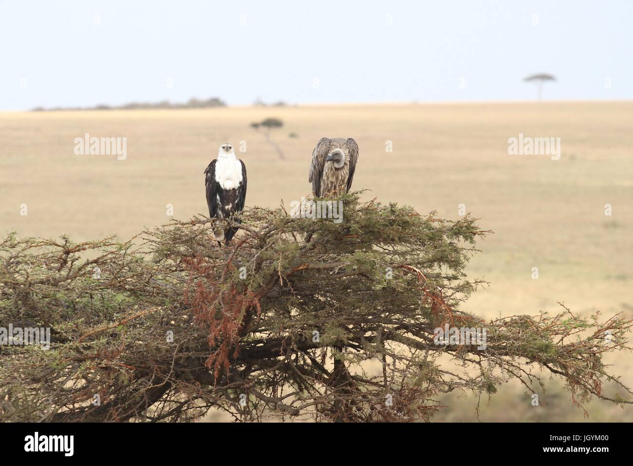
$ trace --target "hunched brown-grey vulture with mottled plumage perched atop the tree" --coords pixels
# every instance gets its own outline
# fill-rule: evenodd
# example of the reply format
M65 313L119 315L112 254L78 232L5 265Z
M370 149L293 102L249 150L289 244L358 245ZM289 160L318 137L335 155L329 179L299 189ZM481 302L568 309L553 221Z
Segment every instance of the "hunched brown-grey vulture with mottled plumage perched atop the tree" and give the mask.
M321 138L312 152L308 181L315 197L337 197L349 191L358 161L352 138Z

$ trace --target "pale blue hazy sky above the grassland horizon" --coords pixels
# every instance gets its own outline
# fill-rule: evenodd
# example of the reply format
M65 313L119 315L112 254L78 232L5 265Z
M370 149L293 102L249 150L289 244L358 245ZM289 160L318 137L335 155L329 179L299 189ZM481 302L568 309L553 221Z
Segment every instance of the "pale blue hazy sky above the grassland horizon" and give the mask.
M533 100L537 72L546 100L631 99L632 20L624 0L0 0L0 109Z

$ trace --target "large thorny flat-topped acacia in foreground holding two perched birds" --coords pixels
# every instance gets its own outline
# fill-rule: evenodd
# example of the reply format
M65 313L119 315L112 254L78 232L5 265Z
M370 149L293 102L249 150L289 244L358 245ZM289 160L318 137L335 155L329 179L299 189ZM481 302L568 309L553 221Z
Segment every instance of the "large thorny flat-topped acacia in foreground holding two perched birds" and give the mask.
M574 403L631 403L603 355L632 323L568 309L484 321L461 307L489 234L465 216L344 195L343 219L253 207L218 247L205 217L129 242L0 243L0 319L49 327L48 350L0 347L3 421L429 420L445 392L534 392L560 377ZM484 348L436 328L487 329ZM449 364L451 361L457 364ZM624 396L608 397L608 382Z

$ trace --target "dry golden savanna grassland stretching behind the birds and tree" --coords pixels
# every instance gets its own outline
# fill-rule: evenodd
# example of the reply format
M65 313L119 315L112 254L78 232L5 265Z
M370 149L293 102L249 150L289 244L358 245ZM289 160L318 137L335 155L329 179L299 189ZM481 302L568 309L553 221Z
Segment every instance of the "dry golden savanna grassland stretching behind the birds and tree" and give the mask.
M270 131L283 160L265 130L250 126L267 117L284 122ZM74 139L85 133L126 137L127 159L75 155ZM508 155L508 138L520 133L561 138L560 160ZM310 193L311 152L322 136L356 139L353 188L370 190L365 198L448 218L458 217L463 204L494 231L468 268L490 286L466 310L536 314L558 311L560 301L587 316L633 318L633 102L0 113L0 232L127 239L166 223L168 204L179 219L204 214L203 171L223 142L236 150L246 142L238 155L248 169L246 204L275 207L283 200L288 209ZM629 386L631 357L607 359ZM482 397L480 419L582 420L560 385L544 382L546 406L532 407L521 387L508 384L490 401ZM477 416L472 395L444 401L449 408L437 420ZM632 406L586 408L589 420L633 420Z

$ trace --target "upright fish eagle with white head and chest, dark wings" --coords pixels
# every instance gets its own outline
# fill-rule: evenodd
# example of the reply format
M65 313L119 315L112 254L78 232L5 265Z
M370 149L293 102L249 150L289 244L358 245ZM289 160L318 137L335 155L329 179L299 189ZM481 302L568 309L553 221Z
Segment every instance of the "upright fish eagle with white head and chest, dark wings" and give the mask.
M228 219L234 212L244 209L246 200L246 165L235 157L233 146L224 143L218 150L218 158L204 171L206 204L209 217L216 217L213 236L220 245L229 244L238 228L230 227ZM239 219L235 220L241 223Z

